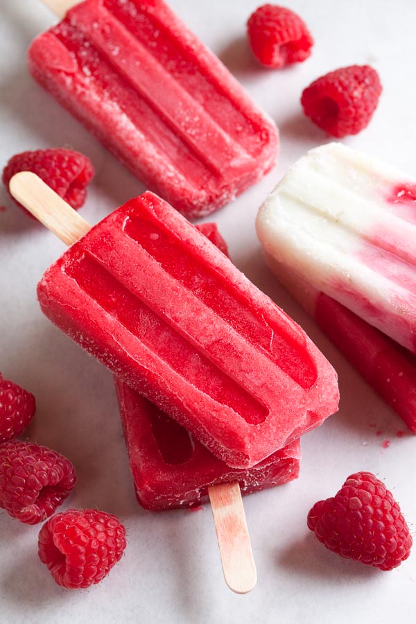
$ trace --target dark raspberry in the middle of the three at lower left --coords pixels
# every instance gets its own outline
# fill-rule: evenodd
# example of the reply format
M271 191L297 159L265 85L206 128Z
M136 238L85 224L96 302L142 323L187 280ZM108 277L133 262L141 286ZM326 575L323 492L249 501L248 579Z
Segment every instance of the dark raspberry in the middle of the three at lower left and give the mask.
M42 522L76 484L67 458L30 442L0 446L0 507L26 524Z

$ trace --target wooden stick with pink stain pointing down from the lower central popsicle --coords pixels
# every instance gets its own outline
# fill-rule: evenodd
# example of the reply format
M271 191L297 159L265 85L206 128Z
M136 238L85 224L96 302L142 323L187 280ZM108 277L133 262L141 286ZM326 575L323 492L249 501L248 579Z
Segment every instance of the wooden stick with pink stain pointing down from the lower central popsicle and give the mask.
M220 547L225 582L236 593L248 593L257 583L250 535L238 481L208 488Z

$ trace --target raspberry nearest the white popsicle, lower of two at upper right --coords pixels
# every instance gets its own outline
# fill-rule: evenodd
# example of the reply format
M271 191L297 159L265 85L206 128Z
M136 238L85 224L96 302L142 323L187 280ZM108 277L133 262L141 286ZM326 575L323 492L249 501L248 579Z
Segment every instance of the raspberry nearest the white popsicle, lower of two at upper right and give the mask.
M302 93L306 116L333 137L357 135L370 123L381 94L379 74L370 65L330 71Z

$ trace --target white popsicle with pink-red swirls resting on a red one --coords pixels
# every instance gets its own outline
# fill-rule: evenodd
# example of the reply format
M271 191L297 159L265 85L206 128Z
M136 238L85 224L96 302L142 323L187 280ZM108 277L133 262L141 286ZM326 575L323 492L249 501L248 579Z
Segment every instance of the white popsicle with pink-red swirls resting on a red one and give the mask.
M416 182L341 144L311 150L264 202L265 252L416 353Z

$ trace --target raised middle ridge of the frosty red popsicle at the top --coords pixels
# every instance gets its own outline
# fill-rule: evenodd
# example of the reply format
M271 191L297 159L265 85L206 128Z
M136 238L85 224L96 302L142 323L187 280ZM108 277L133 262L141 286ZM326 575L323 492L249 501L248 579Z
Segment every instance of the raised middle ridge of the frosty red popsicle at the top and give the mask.
M92 15L86 4L78 8L76 17L78 28L96 50L119 71L126 83L139 92L150 107L163 116L166 125L173 128L175 135L212 173L223 177L227 167L252 164L248 153L220 128L218 121L205 112L204 107L180 80L175 79L156 60L154 51L152 53L152 49L135 36L135 28L132 28L131 23L126 19L114 19L103 6L97 6L96 13ZM160 28L161 34L157 39L162 38L162 26ZM121 57L118 53L121 49L128 49L129 54ZM107 50L112 50L112 53L109 54ZM189 119L192 118L197 123L190 132Z

